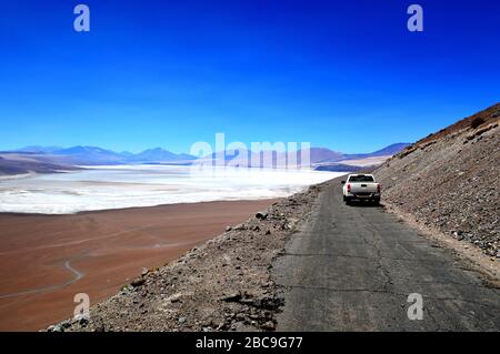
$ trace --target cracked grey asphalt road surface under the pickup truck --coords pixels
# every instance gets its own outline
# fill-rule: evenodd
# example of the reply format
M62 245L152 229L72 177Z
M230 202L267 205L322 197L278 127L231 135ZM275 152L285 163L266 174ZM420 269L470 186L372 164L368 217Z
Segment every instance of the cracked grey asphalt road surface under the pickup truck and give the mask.
M383 208L344 205L340 180L313 210L274 263L278 331L500 331L500 290L451 251Z

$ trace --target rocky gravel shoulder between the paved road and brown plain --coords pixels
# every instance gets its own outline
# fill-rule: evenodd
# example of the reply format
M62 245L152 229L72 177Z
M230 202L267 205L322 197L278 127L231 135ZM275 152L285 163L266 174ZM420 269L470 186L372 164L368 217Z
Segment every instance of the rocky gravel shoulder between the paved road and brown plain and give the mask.
M90 310L49 331L272 331L282 299L271 263L324 184L274 203L243 224L144 272Z

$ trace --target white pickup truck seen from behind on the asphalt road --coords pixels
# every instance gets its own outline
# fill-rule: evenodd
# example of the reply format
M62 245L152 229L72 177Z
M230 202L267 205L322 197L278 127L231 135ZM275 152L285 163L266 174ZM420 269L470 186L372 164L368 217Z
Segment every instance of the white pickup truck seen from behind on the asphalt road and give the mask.
M349 205L353 201L380 203L380 183L377 183L372 174L349 174L342 184L346 204Z

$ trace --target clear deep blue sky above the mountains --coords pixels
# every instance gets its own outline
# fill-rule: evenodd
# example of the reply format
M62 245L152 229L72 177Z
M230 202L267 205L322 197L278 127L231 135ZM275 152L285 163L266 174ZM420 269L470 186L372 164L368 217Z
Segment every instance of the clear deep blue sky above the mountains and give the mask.
M91 32L72 28L87 3ZM407 8L424 9L424 32ZM2 1L0 149L414 141L500 101L500 3Z

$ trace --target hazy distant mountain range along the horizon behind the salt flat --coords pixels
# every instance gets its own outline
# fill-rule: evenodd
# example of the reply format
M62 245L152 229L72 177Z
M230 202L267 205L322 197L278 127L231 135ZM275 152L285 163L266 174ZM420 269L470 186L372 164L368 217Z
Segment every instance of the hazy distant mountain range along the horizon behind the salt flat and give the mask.
M322 171L357 171L361 166L367 166L369 163L379 164L379 160L383 161L386 158L393 155L406 149L409 143L391 144L381 150L371 153L346 154L342 152L332 151L326 148L311 148L310 159L311 164L317 170ZM241 159L247 154L248 160ZM252 165L251 158L259 159L263 156L264 152L244 151L222 151L211 155L204 156L201 160L223 160L224 163L231 162L232 165L240 166L263 166L262 162L259 165ZM298 163L300 164L301 151L297 152ZM374 159L380 158L380 159ZM26 146L12 151L0 152L0 174L12 174L13 172L22 173L34 172L51 172L57 170L67 170L68 166L79 165L104 165L104 164L191 164L196 156L186 153L173 153L162 148L148 149L140 153L131 152L114 152L111 150L98 146ZM240 159L240 160L239 160ZM286 153L272 152L272 163L286 159ZM374 160L372 160L374 159ZM240 161L243 161L240 163ZM248 161L248 162L247 162ZM260 160L253 160L260 161ZM351 163L356 162L356 163ZM40 164L40 169L37 165ZM59 169L58 169L59 168Z

